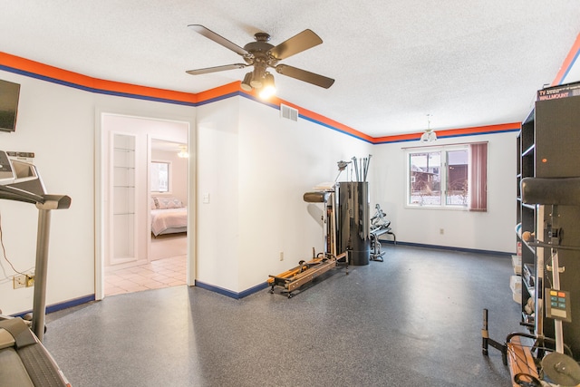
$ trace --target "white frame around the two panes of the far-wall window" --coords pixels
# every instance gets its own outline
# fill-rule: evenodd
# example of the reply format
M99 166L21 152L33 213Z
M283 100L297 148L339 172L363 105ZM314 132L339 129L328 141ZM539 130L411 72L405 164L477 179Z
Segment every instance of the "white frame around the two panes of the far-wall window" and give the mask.
M467 151L468 184L471 179L471 155L469 144L449 144L433 147L409 148L404 150L405 157L405 204L404 208L447 209L469 211L469 194L463 205L447 204L449 152L457 150ZM417 153L440 153L440 204L413 204L411 203L411 155Z

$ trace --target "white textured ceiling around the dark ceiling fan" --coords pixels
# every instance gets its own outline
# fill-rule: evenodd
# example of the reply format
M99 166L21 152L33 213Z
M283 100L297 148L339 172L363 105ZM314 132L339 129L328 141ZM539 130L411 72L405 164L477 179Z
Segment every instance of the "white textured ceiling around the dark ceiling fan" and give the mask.
M0 51L116 82L203 92L247 69L191 31L244 46L306 28L324 41L281 63L330 89L275 73L278 97L373 137L522 121L580 33L578 0L0 0ZM580 81L580 64L570 74ZM577 74L577 76L576 76Z

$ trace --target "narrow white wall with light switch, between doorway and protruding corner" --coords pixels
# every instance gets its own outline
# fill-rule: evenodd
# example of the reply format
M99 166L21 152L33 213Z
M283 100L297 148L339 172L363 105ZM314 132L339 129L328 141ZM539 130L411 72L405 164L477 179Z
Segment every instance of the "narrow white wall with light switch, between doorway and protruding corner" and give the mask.
M197 279L230 290L239 287L238 116L234 98L198 107Z

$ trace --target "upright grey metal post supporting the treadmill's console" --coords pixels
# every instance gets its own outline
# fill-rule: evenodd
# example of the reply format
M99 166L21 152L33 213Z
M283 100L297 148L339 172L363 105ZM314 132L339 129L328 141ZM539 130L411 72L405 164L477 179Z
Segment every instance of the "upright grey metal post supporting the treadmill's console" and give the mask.
M38 235L36 237L36 266L34 270L33 332L43 341L46 306L46 273L48 268L48 239L51 210L38 209Z

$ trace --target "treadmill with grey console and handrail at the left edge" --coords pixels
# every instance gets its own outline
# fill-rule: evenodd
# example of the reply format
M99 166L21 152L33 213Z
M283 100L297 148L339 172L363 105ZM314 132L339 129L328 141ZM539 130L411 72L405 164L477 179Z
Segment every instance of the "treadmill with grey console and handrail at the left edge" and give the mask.
M11 154L0 150L0 199L34 204L38 208L38 234L32 327L20 317L0 314L0 387L70 387L42 341L51 211L69 208L71 198L47 194L36 167L11 159Z

